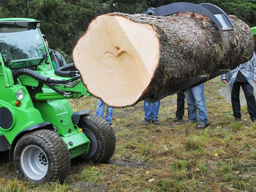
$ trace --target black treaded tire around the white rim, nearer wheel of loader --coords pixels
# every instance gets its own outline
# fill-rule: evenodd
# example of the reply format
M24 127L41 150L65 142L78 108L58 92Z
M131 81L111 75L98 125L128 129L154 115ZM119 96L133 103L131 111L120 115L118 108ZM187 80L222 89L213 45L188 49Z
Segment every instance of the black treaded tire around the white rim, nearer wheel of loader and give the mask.
M40 147L47 156L48 170L46 176L41 180L29 178L22 170L20 155L28 145ZM16 170L27 181L33 183L55 182L57 180L63 183L70 171L71 158L66 143L57 133L47 129L29 132L22 136L14 148L13 157Z

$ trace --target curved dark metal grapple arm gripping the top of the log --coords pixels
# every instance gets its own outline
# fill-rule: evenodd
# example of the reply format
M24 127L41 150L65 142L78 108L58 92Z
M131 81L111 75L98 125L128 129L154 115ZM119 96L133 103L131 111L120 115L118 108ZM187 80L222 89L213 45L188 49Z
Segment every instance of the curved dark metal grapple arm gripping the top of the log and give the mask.
M149 8L142 14L168 16L179 12L194 12L210 18L218 27L220 31L233 30L232 21L229 16L219 7L209 4L193 4L193 3L171 3L158 8Z

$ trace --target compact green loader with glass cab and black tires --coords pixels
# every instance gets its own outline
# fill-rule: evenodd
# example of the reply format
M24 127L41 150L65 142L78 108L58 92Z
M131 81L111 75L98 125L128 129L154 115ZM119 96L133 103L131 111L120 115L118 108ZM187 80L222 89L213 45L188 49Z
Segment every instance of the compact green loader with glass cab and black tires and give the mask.
M73 64L54 70L40 22L0 19L0 151L27 181L63 182L72 158L107 162L115 134L89 110L66 99L87 93Z

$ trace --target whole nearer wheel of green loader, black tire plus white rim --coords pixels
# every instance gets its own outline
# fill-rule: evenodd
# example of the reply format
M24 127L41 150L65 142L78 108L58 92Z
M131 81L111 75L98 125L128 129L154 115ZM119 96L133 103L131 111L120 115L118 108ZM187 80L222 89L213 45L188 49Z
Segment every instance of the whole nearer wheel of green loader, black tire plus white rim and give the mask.
M21 137L14 148L13 156L15 168L29 182L44 183L59 180L62 183L70 170L71 159L67 145L51 130L37 130ZM46 170L41 171L40 164L48 165ZM37 174L38 172L33 173L35 167L41 175Z

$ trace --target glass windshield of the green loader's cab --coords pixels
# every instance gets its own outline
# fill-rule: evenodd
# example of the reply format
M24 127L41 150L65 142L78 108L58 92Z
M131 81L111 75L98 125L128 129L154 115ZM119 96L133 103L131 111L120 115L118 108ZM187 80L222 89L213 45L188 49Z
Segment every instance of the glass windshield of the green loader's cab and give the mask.
M0 53L10 69L40 64L46 47L34 23L0 23Z

